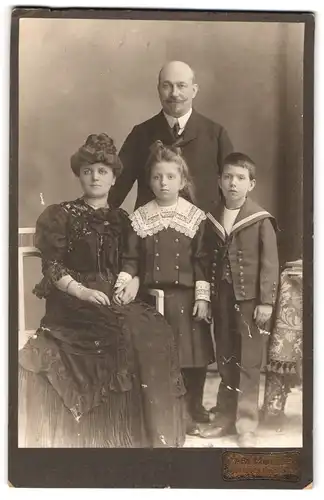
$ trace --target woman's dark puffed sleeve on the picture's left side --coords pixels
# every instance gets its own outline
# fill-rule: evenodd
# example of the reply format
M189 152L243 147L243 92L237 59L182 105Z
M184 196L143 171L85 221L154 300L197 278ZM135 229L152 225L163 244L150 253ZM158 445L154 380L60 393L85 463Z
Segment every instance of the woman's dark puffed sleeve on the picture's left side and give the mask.
M69 274L64 261L67 253L68 213L60 205L50 205L36 222L35 246L41 252L44 278L34 289L39 297L46 297L56 281Z

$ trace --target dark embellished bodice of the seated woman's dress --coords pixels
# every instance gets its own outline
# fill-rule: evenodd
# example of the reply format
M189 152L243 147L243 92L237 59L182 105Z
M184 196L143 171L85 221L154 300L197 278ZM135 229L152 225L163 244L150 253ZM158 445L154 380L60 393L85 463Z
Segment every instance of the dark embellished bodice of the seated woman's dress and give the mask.
M47 296L51 284L67 274L79 281L90 274L113 280L128 228L124 210L94 209L82 198L46 208L36 224L44 279L35 293Z

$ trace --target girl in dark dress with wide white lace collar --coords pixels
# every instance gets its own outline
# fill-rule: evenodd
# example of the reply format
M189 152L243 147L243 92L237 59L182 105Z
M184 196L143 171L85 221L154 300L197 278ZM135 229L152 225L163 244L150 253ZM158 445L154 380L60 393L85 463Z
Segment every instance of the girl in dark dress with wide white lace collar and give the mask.
M188 167L177 148L157 141L147 175L155 199L131 216L132 231L116 282L116 299L136 275L143 290L164 290L164 314L173 327L187 390L187 433L208 422L202 405L207 365L214 360L208 325L210 285L204 273L202 236L206 216L180 196L189 188ZM152 332L154 335L154 332Z

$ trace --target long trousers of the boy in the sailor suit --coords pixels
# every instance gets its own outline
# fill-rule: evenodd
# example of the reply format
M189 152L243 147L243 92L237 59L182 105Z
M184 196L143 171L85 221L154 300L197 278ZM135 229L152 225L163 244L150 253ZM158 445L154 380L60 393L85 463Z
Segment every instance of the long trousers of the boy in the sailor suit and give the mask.
M253 319L256 300L236 301L232 283L222 280L212 299L216 358L221 382L216 420L220 427L236 425L238 434L258 425L260 370L264 335Z

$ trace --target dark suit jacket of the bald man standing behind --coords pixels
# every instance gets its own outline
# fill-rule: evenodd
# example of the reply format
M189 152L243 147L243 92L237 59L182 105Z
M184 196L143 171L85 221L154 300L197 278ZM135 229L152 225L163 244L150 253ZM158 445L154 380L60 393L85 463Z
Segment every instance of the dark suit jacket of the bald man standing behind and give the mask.
M181 148L194 185L195 199L191 201L202 210L211 210L219 201L219 165L233 151L233 146L221 125L195 110L176 142L162 111L133 128L119 153L124 169L110 191L109 204L119 207L135 181L138 181L135 209L154 197L148 186L145 165L149 148L157 140Z

